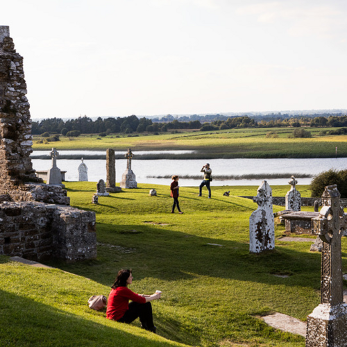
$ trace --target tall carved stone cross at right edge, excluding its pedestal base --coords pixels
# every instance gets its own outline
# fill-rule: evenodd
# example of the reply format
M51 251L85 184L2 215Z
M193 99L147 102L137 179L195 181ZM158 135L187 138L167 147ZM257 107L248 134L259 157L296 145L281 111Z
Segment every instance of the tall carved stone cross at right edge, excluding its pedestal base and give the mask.
M338 305L344 302L342 283L341 237L347 227L347 214L340 205L337 185L325 187L323 208L312 219L314 231L323 241L321 258L321 304Z

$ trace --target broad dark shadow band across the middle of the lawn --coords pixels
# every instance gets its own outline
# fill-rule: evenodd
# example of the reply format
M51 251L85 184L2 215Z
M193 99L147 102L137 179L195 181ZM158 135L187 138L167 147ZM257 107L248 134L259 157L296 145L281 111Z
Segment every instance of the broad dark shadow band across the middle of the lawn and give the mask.
M174 232L164 226L149 225L115 226L103 223L97 239L100 243L98 260L53 266L103 285L112 284L117 272L115 262L126 262L137 269L137 278L176 281L189 280L194 276L212 276L268 285L285 283L287 286L320 288L321 253L277 247L273 252L255 255L249 253L249 245L244 242L198 237ZM309 247L310 244L307 244L307 251ZM292 275L283 279L271 273Z

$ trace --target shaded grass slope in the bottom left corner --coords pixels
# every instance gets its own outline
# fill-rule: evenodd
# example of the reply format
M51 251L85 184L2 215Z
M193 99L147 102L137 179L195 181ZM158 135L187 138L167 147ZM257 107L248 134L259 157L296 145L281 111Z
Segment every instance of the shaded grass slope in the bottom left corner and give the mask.
M121 323L112 322L114 327L97 323L92 317L105 314L87 305L90 320L7 291L0 290L0 295L1 346L168 346L167 341L152 339L151 333L126 332Z

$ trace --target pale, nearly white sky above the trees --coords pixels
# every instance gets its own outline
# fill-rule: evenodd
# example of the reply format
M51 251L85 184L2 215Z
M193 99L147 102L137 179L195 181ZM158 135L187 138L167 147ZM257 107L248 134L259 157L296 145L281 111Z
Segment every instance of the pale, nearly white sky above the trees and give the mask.
M345 0L1 0L31 117L347 108Z

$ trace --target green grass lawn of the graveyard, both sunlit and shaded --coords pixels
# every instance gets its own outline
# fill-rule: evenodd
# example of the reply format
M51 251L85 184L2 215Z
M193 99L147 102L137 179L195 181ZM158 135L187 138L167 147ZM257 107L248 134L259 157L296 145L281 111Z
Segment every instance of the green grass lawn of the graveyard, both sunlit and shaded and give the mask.
M309 251L311 242L281 242L278 222L276 250L249 253L248 219L257 204L237 195L255 196L257 187L212 187L211 199L182 187L185 213L171 214L169 183L99 196L99 205L91 203L96 183L65 183L71 205L96 212L98 257L40 269L0 256L3 346L305 346L304 337L259 316L280 312L305 321L320 301L321 253ZM149 196L152 188L158 196ZM272 189L285 196L289 188ZM310 196L308 186L297 189ZM223 196L227 190L232 196ZM342 259L347 272L346 237ZM105 310L87 306L94 294L108 296L121 268L133 269L133 291L162 291L153 301L158 335L138 320L108 321Z

